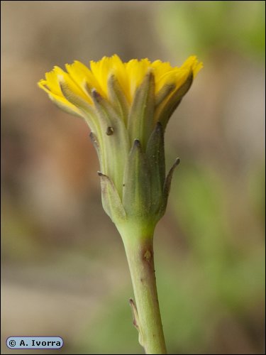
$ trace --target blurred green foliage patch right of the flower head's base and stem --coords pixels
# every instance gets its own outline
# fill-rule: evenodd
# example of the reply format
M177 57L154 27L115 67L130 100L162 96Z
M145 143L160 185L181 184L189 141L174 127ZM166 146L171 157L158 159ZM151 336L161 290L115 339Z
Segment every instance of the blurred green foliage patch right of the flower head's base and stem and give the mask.
M177 199L172 203L177 221L211 290L235 312L247 304L256 305L256 295L260 298L265 288L264 250L260 246L263 224L253 238L248 239L250 230L242 226L235 231L227 206L231 200L228 187L206 165L185 165L175 182L173 195ZM242 241L243 248L239 245Z

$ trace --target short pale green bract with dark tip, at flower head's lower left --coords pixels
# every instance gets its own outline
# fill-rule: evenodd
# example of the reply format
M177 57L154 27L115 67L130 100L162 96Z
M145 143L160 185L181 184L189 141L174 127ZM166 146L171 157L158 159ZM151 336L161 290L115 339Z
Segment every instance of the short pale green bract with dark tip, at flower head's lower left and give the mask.
M109 176L98 172L101 179L101 202L104 211L109 215L113 223L119 223L126 219L126 211L123 208L121 198L118 195L113 181Z

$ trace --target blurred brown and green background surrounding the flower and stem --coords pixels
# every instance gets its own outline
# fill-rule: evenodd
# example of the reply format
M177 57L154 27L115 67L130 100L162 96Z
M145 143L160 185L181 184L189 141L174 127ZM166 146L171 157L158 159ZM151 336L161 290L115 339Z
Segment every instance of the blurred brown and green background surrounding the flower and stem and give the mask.
M1 30L1 354L23 354L11 335L62 337L49 354L143 354L89 129L36 84L114 53L204 62L166 132L167 168L181 158L155 231L168 351L262 354L265 2L1 1Z

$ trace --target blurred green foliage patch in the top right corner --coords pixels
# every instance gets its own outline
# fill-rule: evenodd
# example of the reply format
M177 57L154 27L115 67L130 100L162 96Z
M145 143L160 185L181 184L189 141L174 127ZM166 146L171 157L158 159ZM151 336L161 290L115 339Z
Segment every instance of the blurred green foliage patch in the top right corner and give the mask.
M159 18L158 33L179 55L232 50L264 58L265 1L168 1Z

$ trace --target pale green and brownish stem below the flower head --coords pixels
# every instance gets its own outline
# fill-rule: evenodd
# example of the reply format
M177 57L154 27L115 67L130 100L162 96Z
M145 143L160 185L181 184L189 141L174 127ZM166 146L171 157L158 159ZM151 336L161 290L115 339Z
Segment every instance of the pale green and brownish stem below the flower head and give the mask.
M139 332L139 342L146 354L167 354L157 297L153 259L153 235L122 234L135 295L133 324Z

